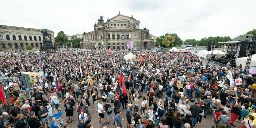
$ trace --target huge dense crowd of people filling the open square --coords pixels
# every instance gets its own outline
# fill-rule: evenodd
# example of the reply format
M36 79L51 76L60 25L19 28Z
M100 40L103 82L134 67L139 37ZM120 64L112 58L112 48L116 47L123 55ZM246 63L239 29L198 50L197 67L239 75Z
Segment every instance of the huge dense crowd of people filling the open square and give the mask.
M135 60L123 58L129 52L136 55ZM203 118L212 118L213 128L235 126L241 118L243 127L256 127L255 74L242 66L231 70L203 64L203 57L194 54L148 50L10 53L2 55L0 71L9 77L8 91L15 96L10 113L0 117L1 128L67 128L74 119L79 120L78 128L93 128L91 121L97 119L90 119L89 111L98 112L103 128L190 128L203 124ZM43 79L35 77L31 88L25 88L21 72L39 71L44 72ZM231 91L229 72L243 80L240 86L231 85ZM237 88L244 91L237 95ZM73 117L75 112L78 117ZM55 125L57 120L63 122Z

